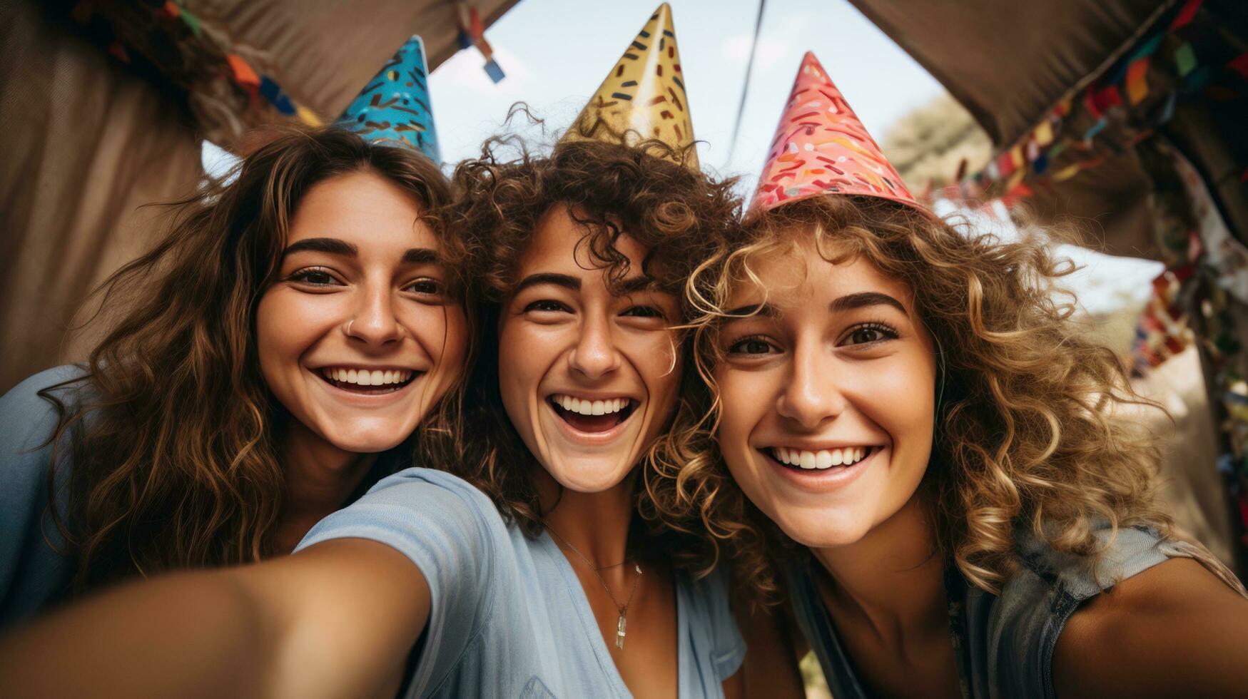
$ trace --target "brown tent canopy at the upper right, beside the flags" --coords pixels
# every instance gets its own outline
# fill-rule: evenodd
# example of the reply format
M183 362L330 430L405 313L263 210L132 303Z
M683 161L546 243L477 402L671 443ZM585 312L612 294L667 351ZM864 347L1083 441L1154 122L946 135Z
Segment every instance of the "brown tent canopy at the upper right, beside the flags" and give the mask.
M850 0L915 57L1005 149L1041 122L1063 95L1085 87L1129 51L1156 21L1182 9L1179 0ZM1238 0L1206 0L1202 11L1248 26ZM1078 124L1080 127L1090 126ZM1232 227L1248 231L1243 165L1226 157L1226 139L1211 129L1201 105L1179 105L1166 136L1192 159L1214 190ZM1158 257L1147 226L1149 191L1138 159L1127 149L1107 154L1103 169L1037 191L1042 218L1077 216L1103 230L1094 242L1108 252ZM1097 231L1099 232L1099 231Z

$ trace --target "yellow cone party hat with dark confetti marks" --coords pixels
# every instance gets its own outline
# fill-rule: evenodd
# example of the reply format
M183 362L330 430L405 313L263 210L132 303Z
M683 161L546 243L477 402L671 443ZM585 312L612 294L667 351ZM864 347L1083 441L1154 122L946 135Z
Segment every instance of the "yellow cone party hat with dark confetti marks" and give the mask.
M658 139L676 151L694 142L680 51L666 2L650 15L563 137L623 145L644 139ZM696 151L690 149L684 164L698 170Z

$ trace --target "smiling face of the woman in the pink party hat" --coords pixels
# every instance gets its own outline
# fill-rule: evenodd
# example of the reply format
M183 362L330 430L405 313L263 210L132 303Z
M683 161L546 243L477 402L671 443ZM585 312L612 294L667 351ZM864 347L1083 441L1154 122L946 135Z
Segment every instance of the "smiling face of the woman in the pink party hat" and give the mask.
M831 257L831 256L830 256ZM909 290L814 235L734 290L715 368L718 441L745 494L794 540L851 544L915 494L931 456L936 363ZM765 297L764 297L765 296Z

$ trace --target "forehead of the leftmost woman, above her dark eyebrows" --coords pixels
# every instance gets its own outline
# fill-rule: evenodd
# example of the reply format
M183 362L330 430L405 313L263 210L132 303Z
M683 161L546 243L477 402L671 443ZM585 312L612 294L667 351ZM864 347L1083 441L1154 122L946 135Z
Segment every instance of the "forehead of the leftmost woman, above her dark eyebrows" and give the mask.
M303 238L334 237L361 251L384 247L437 248L423 222L419 200L374 172L334 175L312 185L291 220L287 245Z

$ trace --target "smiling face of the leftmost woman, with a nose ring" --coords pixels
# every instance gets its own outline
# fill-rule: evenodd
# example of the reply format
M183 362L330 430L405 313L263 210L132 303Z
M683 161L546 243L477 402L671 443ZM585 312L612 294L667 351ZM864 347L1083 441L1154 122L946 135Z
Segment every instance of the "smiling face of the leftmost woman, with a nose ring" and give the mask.
M467 320L419 202L372 172L312 186L256 312L260 368L311 433L399 444L463 369Z

